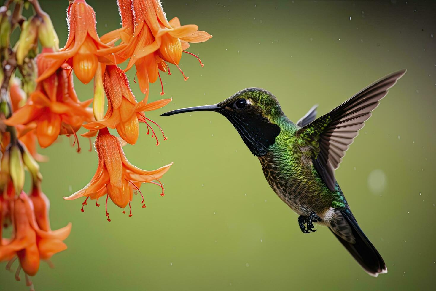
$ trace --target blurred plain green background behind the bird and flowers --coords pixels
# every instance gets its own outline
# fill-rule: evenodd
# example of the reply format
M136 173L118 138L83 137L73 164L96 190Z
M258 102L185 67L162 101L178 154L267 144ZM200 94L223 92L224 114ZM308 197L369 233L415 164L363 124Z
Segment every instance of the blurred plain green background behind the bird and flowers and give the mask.
M41 0L61 46L67 0ZM89 0L99 35L119 27L116 1ZM97 167L82 138L77 154L66 137L46 150L43 189L52 228L73 223L68 250L55 269L42 263L37 290L430 290L436 283L435 97L433 1L163 1L167 18L213 34L162 74L174 100L148 117L168 140L156 147L142 124L126 156L140 168L174 161L164 197L151 184L133 199L133 216L108 203L63 196L84 187ZM296 121L315 103L319 115L382 76L407 68L347 152L337 180L362 229L388 266L366 274L327 228L303 235L297 215L269 187L259 161L223 116L210 112L161 117L187 106L217 103L262 87ZM139 87L129 80L137 99ZM76 79L80 99L92 84ZM150 101L161 99L159 82ZM3 268L3 267L2 267ZM1 290L27 290L0 272Z

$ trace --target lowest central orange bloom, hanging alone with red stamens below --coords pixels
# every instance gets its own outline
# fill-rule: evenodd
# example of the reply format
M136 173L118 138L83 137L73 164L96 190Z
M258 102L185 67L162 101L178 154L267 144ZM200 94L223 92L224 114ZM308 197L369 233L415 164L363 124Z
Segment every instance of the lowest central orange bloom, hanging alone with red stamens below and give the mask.
M86 199L82 205L86 205L88 198L99 199L108 194L106 196L106 216L108 221L110 221L109 213L107 212L108 198L120 208L125 208L127 205L130 207L130 201L132 201L133 198L133 190L136 189L140 191L139 188L142 183L160 185L162 188L161 195L164 195L164 187L159 179L169 170L170 166L173 164L172 162L154 171L145 171L136 168L129 163L124 155L119 139L109 134L107 128L99 130L99 135L94 145L99 156L99 165L94 177L85 188L64 199L73 200L85 196ZM153 180L158 181L159 184L153 182ZM143 202L144 200L141 203ZM99 206L97 202L95 204ZM145 207L144 204L143 207ZM82 212L83 211L82 207ZM129 216L131 216L131 214L132 210L130 209Z

